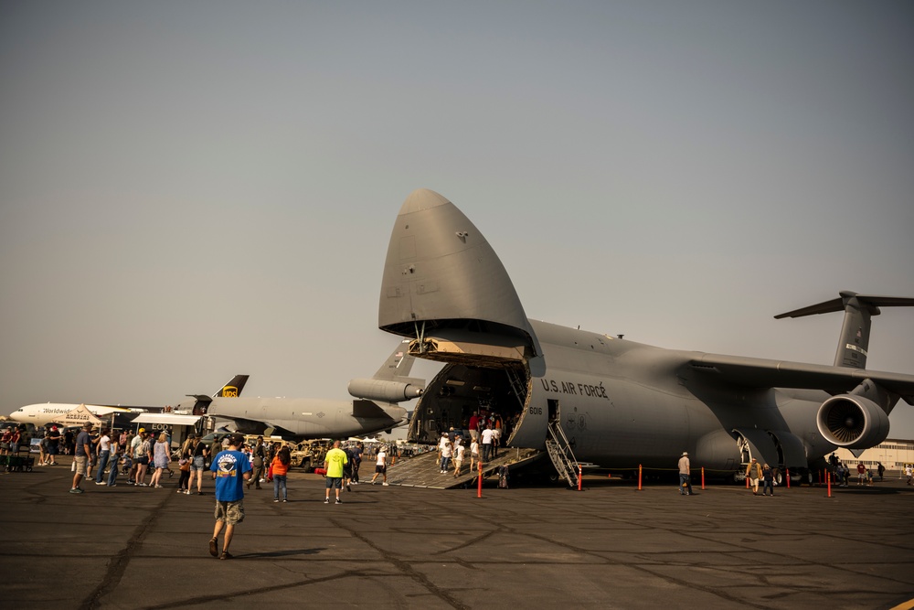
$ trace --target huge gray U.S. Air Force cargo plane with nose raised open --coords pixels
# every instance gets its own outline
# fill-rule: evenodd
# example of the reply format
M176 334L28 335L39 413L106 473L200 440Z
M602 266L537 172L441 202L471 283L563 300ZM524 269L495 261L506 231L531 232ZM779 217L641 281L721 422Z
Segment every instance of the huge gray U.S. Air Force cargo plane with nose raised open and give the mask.
M739 473L756 457L809 476L836 447L881 443L898 399L914 404L914 375L865 368L870 318L892 305L914 299L843 292L777 316L843 309L834 366L655 348L531 320L483 234L419 189L390 236L378 326L408 337L410 354L445 363L410 441L433 443L483 407L518 417L506 444L550 456L558 447L578 462L670 468L687 451L712 471Z

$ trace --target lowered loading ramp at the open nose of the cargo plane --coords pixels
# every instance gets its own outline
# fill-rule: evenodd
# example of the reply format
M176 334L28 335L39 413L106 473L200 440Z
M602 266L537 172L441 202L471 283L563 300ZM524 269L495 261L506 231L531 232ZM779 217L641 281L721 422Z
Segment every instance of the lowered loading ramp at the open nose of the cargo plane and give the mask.
M483 465L483 478L496 476L499 466L508 466L514 470L526 466L546 454L537 449L520 449L515 447L502 448L497 457ZM438 452L398 459L395 464L388 466L388 483L403 487L429 487L430 489L452 489L466 487L475 482L478 476L478 466L473 465L473 472L469 472L469 458L463 460L462 475L453 476L453 466L446 475L441 474L441 464Z

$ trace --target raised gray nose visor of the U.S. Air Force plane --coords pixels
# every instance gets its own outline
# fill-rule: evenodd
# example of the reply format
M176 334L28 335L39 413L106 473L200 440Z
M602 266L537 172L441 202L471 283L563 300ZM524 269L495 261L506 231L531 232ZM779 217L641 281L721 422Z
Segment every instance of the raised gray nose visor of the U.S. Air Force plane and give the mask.
M515 366L542 355L492 246L425 188L409 194L391 231L377 326L413 339L409 353L425 359Z

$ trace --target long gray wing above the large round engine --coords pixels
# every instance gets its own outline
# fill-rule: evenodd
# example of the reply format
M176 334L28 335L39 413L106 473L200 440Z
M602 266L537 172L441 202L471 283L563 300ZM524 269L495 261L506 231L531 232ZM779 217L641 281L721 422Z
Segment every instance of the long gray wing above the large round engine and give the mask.
M914 375L904 373L720 354L696 355L689 366L708 377L752 388L808 388L844 393L854 390L863 380L873 380L914 405Z

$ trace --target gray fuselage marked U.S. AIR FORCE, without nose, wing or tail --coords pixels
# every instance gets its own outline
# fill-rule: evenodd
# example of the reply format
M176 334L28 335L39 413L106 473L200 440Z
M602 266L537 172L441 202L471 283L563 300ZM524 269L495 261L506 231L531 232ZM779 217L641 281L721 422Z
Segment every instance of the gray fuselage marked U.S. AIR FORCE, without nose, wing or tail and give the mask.
M558 418L575 457L606 467L670 468L683 451L710 470L739 470L753 453L805 467L834 450L814 427L825 392L801 398L722 387L688 366L695 352L530 324L546 362L542 376L530 376L521 363L494 368L464 355L431 381L414 414L424 421L410 426L410 439L431 442L451 425L465 427L482 407L515 421L506 444L517 447L544 448L548 422ZM511 388L512 374L523 392Z

